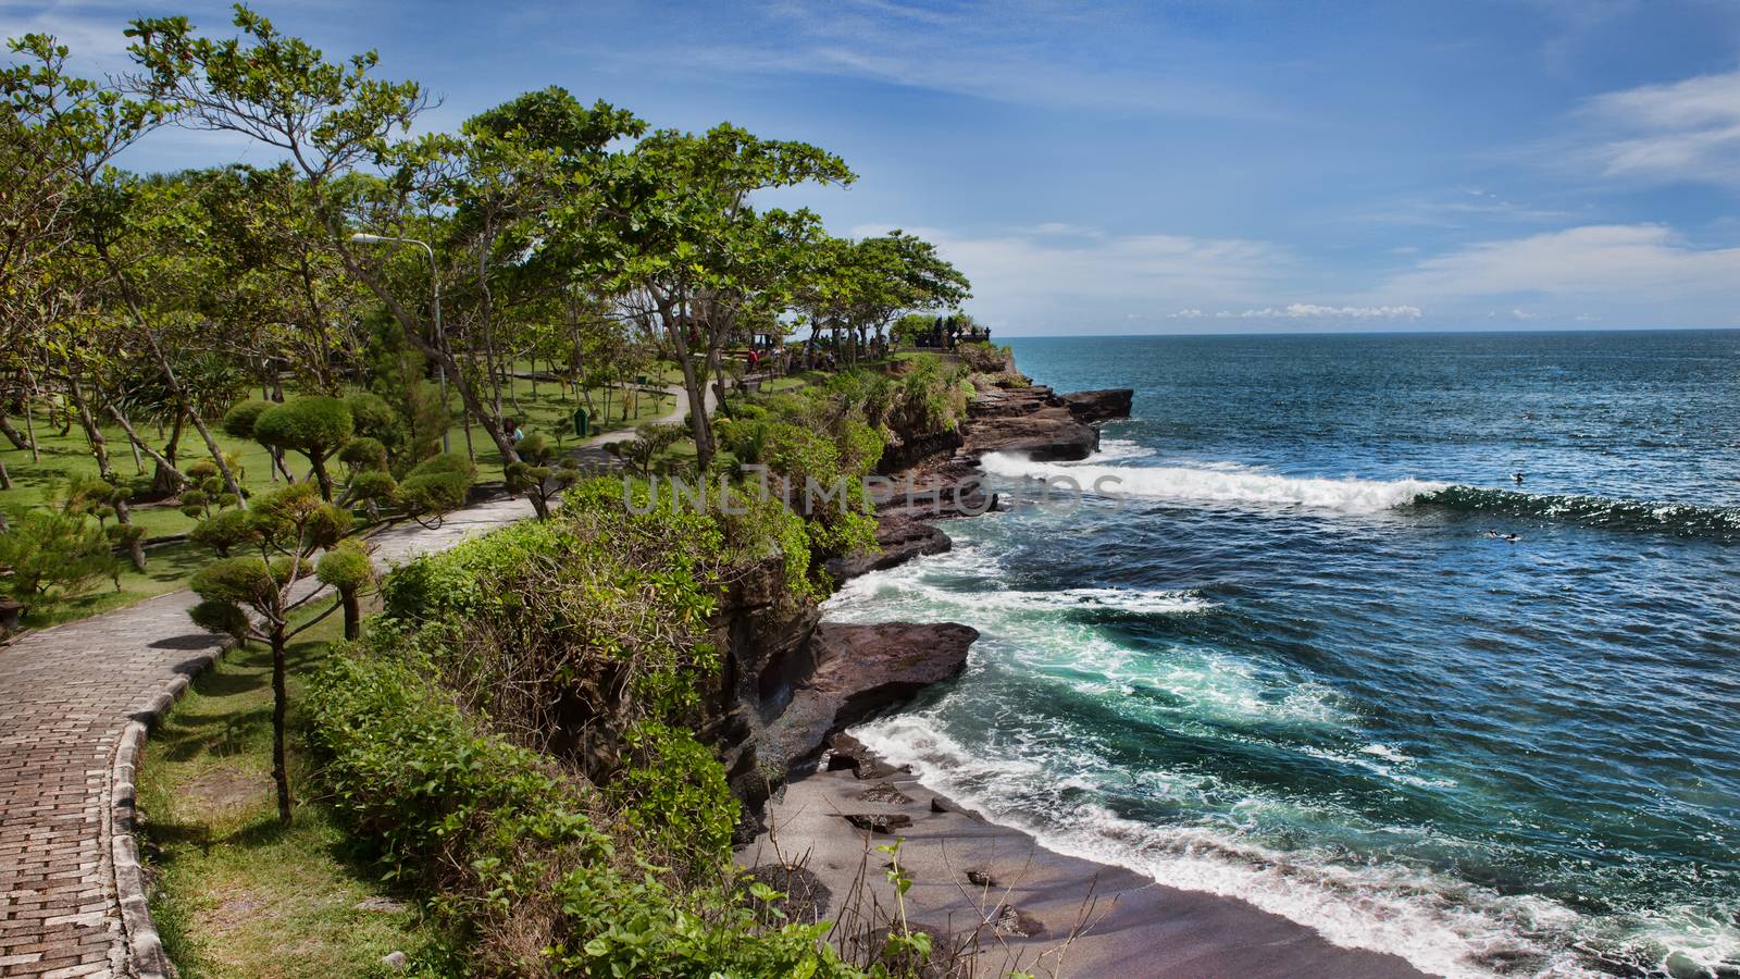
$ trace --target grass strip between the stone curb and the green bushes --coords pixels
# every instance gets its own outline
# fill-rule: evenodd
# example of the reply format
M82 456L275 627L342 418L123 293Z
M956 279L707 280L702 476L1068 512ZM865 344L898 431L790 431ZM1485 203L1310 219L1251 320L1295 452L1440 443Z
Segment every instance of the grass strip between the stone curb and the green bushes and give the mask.
M395 901L320 801L298 726L301 678L343 632L332 615L291 648L291 786L271 786L271 655L245 646L193 681L139 766L151 915L184 979L390 976L381 956L432 956L418 904Z

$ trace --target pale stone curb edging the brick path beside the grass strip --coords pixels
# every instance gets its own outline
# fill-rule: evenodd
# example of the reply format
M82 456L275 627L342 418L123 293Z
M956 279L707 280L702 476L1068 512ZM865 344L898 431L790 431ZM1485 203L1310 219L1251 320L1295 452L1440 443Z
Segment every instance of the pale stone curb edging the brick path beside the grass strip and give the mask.
M228 652L230 643L219 650ZM115 763L110 766L108 786L108 834L110 854L115 866L115 902L120 906L122 932L127 937L129 972L137 979L174 979L176 967L164 951L164 941L157 934L151 920L151 904L144 888L144 868L139 864L137 829L137 793L134 775L139 766L139 751L144 739L169 707L186 692L195 676L205 672L219 653L205 653L188 662L190 672L176 674L150 706L136 712L122 728L120 742L115 746Z

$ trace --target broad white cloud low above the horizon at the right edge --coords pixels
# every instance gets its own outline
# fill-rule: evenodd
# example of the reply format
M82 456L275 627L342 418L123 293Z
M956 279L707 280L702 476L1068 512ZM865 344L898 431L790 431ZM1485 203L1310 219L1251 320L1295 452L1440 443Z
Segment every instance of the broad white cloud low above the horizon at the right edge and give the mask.
M1526 298L1540 321L1599 308L1611 322L1728 326L1740 322L1740 247L1696 247L1662 225L1587 225L1427 258L1371 294L1402 298L1434 308Z

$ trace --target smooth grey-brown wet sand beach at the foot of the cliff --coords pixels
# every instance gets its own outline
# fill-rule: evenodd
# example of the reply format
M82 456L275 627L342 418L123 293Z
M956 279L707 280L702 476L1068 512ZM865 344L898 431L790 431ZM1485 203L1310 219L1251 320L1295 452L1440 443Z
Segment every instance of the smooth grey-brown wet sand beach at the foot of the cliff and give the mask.
M947 812L936 812L933 800ZM867 833L846 815L912 822ZM828 892L821 916L830 920L860 878L860 906L893 908L889 855L875 847L900 838L900 862L914 881L908 920L955 941L976 934L981 976L1013 969L1084 979L1423 976L1394 955L1335 946L1232 897L1178 890L1124 868L1054 854L1020 829L955 807L907 772L870 779L851 770L818 772L786 786L767 817L771 833L743 848L738 862L799 864L814 873Z

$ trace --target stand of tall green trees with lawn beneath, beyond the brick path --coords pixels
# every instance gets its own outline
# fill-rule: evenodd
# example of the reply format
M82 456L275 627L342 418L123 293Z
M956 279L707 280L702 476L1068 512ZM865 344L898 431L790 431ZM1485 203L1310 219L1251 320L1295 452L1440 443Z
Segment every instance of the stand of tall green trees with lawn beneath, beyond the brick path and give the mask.
M136 21L132 70L108 80L52 37L9 44L0 523L28 526L0 571L24 625L184 585L184 535L221 544L289 483L374 519L392 477L393 502L433 509L416 496L438 479L412 470L461 442L548 509L581 432L703 404L745 350L806 327L809 362L870 359L901 312L967 294L914 235L837 239L757 206L854 179L818 146L654 129L555 87L412 134L430 96L372 52L329 57L245 7L235 28ZM164 127L266 162L127 171ZM705 470L713 420L684 425ZM94 554L92 523L118 573L61 559Z

